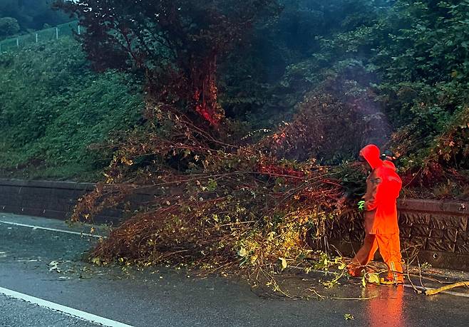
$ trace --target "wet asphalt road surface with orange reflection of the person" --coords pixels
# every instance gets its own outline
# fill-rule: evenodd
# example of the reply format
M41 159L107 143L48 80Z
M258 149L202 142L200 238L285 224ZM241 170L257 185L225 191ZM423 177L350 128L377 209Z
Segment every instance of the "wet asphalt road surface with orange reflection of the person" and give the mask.
M49 219L0 214L0 220L70 230ZM329 297L372 299L264 299L243 282L197 279L192 271L83 263L83 252L95 242L0 223L0 287L132 326L469 326L469 297L426 297L393 286L363 289L347 280L325 290L318 279L327 277L316 275L299 285ZM0 326L98 325L0 294Z

